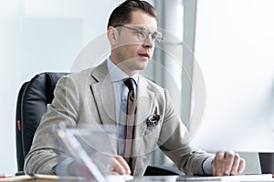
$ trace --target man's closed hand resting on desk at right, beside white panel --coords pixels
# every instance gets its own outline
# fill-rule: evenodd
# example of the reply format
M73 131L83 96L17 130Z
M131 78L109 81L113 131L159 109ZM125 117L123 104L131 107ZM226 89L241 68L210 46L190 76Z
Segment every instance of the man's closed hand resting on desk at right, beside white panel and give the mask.
M246 162L233 151L218 151L211 165L213 176L227 176L242 173Z

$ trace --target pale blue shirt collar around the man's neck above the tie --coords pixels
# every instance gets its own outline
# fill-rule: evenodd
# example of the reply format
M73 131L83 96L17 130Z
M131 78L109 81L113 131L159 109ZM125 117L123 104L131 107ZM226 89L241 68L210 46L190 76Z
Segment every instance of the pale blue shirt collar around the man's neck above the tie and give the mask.
M115 66L113 64L113 62L111 61L111 57L108 57L107 64L108 64L109 74L111 76L111 82L122 81L129 77L118 66ZM134 79L136 85L138 83L138 76L139 76L138 72L134 74L133 76L131 76Z

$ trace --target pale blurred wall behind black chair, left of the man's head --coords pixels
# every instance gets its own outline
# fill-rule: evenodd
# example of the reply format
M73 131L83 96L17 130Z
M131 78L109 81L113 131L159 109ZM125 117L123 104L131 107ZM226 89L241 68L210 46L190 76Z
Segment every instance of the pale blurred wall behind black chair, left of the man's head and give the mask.
M44 71L69 72L79 51L106 33L121 0L0 1L0 174L16 172L16 96Z

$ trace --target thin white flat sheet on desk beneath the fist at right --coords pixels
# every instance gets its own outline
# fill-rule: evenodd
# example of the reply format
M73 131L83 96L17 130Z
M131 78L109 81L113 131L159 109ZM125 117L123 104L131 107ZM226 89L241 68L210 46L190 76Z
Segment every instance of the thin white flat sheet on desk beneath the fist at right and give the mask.
M224 177L178 177L176 181L273 181L271 174L236 175Z

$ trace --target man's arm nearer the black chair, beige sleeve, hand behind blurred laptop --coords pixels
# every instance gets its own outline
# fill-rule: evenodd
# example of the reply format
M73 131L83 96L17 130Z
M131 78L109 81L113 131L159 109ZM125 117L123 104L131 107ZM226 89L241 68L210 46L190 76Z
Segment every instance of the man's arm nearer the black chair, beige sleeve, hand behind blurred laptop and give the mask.
M86 91L90 85L83 85L72 76L62 77L55 89L55 98L47 106L47 113L42 117L41 123L34 136L32 147L26 156L26 173L40 174L67 174L69 168L75 168L76 163L68 157L66 149L58 145L57 139L52 134L52 126L64 122L68 127L76 127L79 122L93 120L90 116L90 107L82 100L87 99ZM82 86L82 87L81 87ZM88 86L88 89L87 87ZM85 93L80 92L83 90ZM88 92L89 93L89 92ZM89 110L89 112L87 112ZM96 112L96 111L94 111ZM80 118L82 116L82 118ZM130 168L122 157L111 157L111 171L119 174L130 174Z

